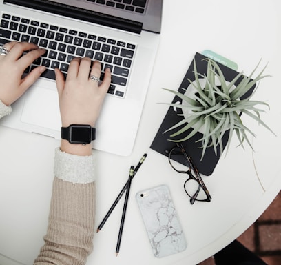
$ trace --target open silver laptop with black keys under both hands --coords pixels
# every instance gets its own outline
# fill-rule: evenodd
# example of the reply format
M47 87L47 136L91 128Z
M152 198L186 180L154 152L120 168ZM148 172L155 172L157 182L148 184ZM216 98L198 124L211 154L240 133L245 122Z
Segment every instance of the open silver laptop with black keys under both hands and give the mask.
M0 124L61 139L54 68L74 57L101 61L112 84L96 123L94 148L132 153L159 43L163 0L1 0L0 45L29 41L47 50L47 70Z

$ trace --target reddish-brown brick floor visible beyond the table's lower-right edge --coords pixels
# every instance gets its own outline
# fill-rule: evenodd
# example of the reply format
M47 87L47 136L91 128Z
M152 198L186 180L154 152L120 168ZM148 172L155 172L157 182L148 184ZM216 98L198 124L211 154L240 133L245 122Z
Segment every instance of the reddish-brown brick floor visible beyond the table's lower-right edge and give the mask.
M281 264L281 192L238 241L269 265ZM199 265L215 265L209 257Z

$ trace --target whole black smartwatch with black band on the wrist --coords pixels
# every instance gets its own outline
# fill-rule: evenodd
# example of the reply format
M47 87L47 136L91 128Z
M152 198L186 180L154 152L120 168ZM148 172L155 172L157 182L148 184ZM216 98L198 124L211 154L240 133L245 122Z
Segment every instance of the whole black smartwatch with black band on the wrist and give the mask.
M96 128L87 124L71 124L61 127L61 139L68 140L70 144L90 144L96 139Z

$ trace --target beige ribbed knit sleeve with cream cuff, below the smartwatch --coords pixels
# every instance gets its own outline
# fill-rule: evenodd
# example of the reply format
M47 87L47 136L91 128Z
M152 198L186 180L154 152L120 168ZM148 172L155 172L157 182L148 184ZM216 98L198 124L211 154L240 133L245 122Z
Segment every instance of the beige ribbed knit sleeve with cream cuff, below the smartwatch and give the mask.
M94 235L94 159L56 149L45 244L34 264L85 264Z

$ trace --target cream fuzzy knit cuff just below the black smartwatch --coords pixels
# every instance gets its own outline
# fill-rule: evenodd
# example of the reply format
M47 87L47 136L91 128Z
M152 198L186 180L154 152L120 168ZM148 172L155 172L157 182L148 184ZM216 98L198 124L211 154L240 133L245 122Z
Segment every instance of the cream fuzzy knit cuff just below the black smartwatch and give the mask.
M64 153L56 148L54 175L64 181L87 184L95 180L94 156L79 156Z

